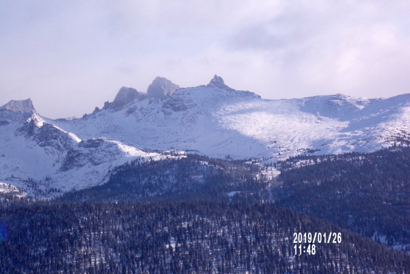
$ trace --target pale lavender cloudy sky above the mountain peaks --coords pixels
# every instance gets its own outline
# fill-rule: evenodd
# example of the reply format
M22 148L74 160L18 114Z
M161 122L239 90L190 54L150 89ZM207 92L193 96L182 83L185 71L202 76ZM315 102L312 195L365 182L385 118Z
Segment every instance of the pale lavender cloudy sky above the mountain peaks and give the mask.
M92 112L155 76L267 99L410 92L410 1L0 0L0 105Z

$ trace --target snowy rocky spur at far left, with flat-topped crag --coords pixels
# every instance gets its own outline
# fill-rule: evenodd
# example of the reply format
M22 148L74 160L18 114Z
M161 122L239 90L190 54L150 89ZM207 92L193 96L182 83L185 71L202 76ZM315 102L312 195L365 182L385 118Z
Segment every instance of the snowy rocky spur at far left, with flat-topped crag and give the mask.
M27 104L14 101L14 107L0 110L2 185L11 184L32 196L52 197L103 183L110 169L127 161L163 158L105 138L81 140L47 123L33 107L20 107ZM13 187L3 187L2 192L7 189L15 192Z

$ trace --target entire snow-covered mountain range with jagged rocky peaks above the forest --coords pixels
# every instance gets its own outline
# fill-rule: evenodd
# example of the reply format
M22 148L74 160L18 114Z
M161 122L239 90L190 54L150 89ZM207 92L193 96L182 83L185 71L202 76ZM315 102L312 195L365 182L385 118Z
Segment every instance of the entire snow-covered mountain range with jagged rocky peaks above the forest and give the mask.
M410 94L267 100L215 75L180 88L156 77L147 93L122 87L80 119L48 119L30 99L0 107L0 191L51 198L108 181L131 162L198 153L276 162L301 154L372 152L408 144ZM170 153L172 151L173 153Z

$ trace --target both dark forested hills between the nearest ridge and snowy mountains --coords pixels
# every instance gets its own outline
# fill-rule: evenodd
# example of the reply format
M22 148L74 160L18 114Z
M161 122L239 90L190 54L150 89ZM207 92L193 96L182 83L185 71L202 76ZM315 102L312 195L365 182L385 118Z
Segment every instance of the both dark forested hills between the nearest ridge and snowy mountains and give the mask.
M300 156L271 167L187 155L133 161L108 183L67 193L63 201L272 202L408 252L410 149Z

